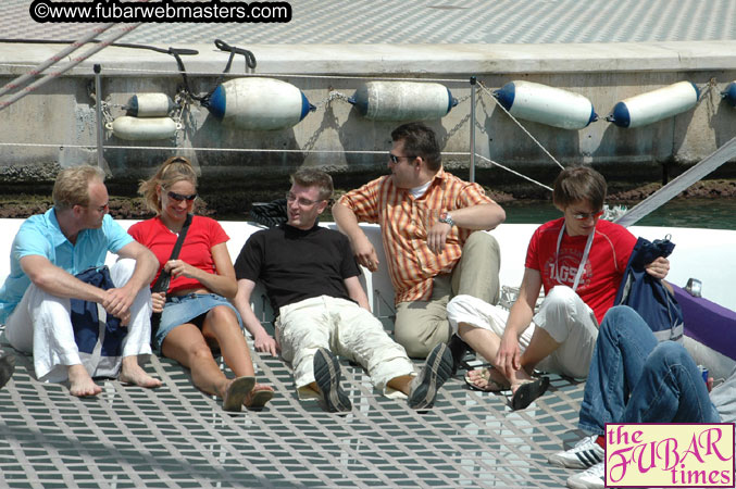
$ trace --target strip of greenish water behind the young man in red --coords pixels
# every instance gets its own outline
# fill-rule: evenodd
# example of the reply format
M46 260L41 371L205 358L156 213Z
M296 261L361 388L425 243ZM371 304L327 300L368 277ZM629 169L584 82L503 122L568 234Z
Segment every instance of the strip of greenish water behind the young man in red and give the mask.
M562 216L549 201L514 201L503 209L509 224L540 224ZM635 225L736 230L736 199L671 200Z

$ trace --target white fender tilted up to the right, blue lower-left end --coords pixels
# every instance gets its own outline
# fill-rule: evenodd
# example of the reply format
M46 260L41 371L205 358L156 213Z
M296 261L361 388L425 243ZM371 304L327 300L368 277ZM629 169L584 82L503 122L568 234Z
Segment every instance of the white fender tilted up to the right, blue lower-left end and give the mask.
M606 121L619 127L646 126L689 111L699 98L700 90L694 83L678 82L622 100Z

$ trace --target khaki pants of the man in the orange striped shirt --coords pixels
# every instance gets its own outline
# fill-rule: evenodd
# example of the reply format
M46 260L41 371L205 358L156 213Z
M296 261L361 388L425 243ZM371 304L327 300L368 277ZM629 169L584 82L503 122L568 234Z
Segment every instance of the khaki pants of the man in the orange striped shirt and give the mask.
M423 359L432 349L447 342L452 333L447 321L447 303L458 294L498 302L501 251L496 238L485 231L471 234L462 256L451 274L434 278L428 301L400 302L396 306L396 341L412 358Z

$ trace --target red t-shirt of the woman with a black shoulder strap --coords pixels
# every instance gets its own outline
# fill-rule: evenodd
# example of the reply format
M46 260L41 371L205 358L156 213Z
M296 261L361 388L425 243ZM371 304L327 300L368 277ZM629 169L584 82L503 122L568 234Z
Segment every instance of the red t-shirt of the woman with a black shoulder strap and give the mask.
M151 286L153 286L159 278L161 268L169 261L178 236L169 230L160 216L134 224L128 229L128 234L136 241L151 250L155 254L155 258L159 259L159 273L155 274L151 283ZM207 273L214 274L215 266L212 260L212 247L226 242L229 239L229 236L227 236L215 220L199 215L192 216L178 259ZM199 280L179 276L172 278L169 292L198 287L203 287Z

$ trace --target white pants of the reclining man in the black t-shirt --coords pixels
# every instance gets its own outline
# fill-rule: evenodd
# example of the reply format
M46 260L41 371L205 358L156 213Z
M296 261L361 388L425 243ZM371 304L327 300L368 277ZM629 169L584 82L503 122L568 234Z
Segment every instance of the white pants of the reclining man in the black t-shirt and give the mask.
M294 366L294 381L300 399L314 397L307 388L314 381L314 353L326 348L365 368L376 389L388 397L399 392L389 380L414 375L407 352L384 330L370 311L352 301L328 296L304 299L279 309L276 336L282 356Z

